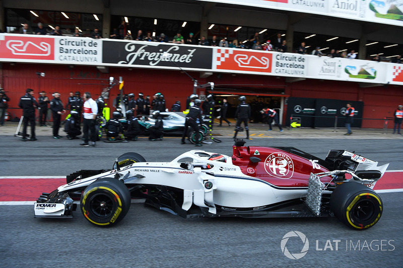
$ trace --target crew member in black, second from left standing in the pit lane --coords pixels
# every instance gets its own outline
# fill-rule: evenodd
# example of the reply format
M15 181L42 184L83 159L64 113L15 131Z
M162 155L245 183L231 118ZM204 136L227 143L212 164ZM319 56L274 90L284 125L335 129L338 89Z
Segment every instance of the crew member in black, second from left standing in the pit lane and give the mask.
M28 122L31 124L31 141L35 141L35 109L38 107L38 103L34 98L34 90L27 88L26 94L21 97L18 106L23 110L24 119L22 120L23 134L22 141L27 141L27 127Z

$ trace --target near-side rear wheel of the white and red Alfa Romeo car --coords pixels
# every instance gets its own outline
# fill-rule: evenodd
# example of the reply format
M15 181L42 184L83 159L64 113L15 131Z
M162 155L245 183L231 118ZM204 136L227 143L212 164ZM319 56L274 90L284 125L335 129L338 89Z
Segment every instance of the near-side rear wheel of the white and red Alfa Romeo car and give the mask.
M383 203L375 191L360 183L348 182L334 189L330 210L347 226L363 230L379 221Z

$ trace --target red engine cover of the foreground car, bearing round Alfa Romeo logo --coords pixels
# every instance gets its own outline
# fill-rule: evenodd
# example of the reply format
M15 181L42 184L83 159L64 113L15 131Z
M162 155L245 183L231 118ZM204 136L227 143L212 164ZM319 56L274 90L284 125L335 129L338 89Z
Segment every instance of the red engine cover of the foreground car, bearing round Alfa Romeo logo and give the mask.
M261 161L253 163L251 157ZM270 147L233 146L232 162L242 173L281 187L308 187L310 173L329 171L316 161Z

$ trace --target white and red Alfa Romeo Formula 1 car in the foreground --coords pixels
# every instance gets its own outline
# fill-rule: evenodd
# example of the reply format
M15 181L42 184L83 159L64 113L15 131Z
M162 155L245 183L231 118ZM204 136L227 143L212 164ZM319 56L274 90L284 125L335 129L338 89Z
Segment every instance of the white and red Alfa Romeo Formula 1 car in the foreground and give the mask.
M354 229L377 223L383 204L373 191L388 164L347 150L325 159L293 147L244 146L233 155L185 152L170 162L119 156L113 169L80 170L65 185L43 193L35 217L72 217L80 200L84 217L99 226L124 218L132 198L183 218L335 216Z

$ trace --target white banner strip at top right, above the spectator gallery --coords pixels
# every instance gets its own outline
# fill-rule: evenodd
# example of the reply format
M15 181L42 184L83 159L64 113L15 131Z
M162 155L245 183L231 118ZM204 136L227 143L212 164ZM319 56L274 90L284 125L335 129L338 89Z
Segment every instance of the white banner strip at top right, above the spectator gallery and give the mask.
M403 26L403 0L198 0Z

